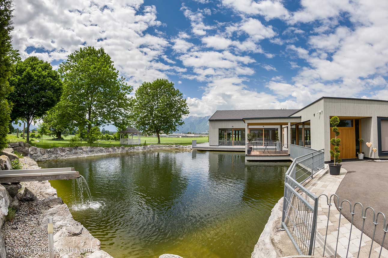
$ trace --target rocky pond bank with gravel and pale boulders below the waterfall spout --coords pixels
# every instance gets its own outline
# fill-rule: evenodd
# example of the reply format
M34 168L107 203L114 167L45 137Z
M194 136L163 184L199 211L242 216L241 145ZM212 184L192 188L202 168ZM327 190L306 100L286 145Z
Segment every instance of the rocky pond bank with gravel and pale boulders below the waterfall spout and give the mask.
M24 169L38 169L29 157L20 159ZM23 193L23 194L21 194ZM15 218L2 223L0 241L1 258L47 257L47 218L53 218L54 247L61 258L112 258L100 249L100 241L73 219L69 208L57 196L57 191L48 181L22 182L0 186L0 217L2 222L8 206L17 210ZM69 250L69 248L73 248ZM7 255L5 256L5 252Z

